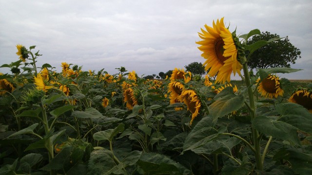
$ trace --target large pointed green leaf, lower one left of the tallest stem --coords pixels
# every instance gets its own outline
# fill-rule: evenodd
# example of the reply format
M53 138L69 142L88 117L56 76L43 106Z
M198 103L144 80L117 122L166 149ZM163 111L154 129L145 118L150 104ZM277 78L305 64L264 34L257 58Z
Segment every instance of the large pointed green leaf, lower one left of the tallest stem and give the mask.
M183 145L183 152L205 145L217 138L217 131L213 127L211 116L202 118L186 137Z

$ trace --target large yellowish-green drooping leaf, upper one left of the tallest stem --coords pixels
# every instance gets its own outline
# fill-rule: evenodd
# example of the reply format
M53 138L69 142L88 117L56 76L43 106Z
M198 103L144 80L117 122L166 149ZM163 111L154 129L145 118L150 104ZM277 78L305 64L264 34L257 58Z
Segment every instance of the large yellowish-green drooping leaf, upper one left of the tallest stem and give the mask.
M208 107L211 115L214 118L214 123L219 117L223 117L244 105L245 98L243 95L226 95L217 99L212 105Z

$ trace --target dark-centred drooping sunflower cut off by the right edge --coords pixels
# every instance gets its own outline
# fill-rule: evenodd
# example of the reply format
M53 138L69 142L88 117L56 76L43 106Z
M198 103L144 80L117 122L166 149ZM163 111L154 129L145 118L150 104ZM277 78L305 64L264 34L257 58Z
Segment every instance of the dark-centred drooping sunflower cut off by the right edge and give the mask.
M312 113L312 91L304 88L297 89L292 93L289 102L302 105Z

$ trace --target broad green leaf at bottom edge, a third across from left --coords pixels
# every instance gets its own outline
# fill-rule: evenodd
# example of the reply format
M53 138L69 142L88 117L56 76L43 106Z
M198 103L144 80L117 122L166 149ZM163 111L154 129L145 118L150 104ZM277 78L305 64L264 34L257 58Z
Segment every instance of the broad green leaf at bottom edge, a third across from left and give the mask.
M95 150L90 154L87 175L102 175L110 171L115 165L111 151L107 149Z

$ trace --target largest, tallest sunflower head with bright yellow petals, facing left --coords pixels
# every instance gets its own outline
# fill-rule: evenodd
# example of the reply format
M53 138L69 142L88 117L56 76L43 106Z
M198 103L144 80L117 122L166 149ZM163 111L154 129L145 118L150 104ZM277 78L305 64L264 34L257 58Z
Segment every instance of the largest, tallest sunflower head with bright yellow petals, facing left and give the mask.
M209 76L216 76L216 83L224 84L230 82L232 72L240 75L242 65L237 61L237 49L231 32L224 26L223 18L213 22L213 28L205 25L198 33L202 41L196 42L202 57L207 59L204 62L205 70L209 70Z

